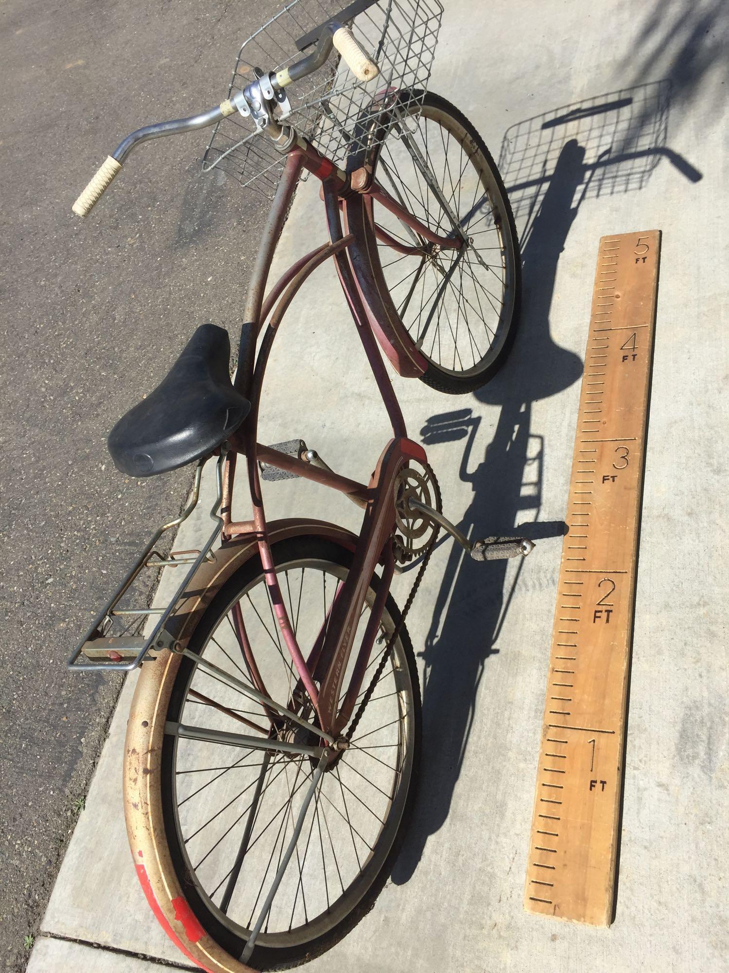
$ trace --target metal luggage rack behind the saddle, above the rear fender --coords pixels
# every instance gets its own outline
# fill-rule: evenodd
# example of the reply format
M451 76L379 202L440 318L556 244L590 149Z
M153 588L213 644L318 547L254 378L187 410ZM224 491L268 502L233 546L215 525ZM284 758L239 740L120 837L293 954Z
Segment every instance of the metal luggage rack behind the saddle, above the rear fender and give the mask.
M200 460L195 470L191 497L187 507L174 521L164 523L156 530L147 547L124 577L121 585L98 613L93 625L76 646L67 663L69 668L81 670L112 669L126 672L140 666L145 658L155 658L156 653L161 649L172 648L174 639L168 631L165 631L166 623L174 614L200 565L206 560L215 559L211 549L223 529L223 519L219 512L223 502L223 464L226 451L225 448L221 450L216 464L218 489L215 503L210 511L210 517L216 522L216 526L207 542L199 551L173 551L171 554L165 555L157 550L157 544L162 535L171 527L179 526L179 524L187 521L199 502L200 481L205 465L205 460ZM166 607L148 608L138 607L134 604L120 606L124 595L129 595L132 599L136 595L137 601L139 600L141 595L138 591L134 591L134 582L137 581L145 568L159 570L161 567L178 567L183 564L189 565L188 570ZM129 631L129 629L136 629L137 631ZM145 634L145 631L148 631L148 633Z

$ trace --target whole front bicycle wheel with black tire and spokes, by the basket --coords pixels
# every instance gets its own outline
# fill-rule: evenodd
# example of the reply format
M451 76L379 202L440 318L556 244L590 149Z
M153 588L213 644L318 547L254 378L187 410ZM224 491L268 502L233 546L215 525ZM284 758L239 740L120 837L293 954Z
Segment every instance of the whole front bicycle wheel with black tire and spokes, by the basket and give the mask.
M429 230L463 231L466 240L458 250L438 248L375 201L372 271L428 360L423 381L443 392L471 392L501 368L519 320L521 258L511 208L496 163L457 108L428 92L417 119L407 108L400 112L367 159L375 179Z

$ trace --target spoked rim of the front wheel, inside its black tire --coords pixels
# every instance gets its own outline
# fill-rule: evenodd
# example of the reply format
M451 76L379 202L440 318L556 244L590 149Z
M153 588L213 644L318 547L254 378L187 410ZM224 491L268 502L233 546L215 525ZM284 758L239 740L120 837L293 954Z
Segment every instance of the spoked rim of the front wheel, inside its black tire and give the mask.
M404 255L378 239L380 267L399 317L421 353L447 375L474 376L498 357L514 310L515 253L506 203L485 156L447 112L426 101L417 123L407 119L405 125L459 221L472 214L467 224L472 242L460 255L445 249L433 253L426 241L375 202L378 227L403 246L431 251L427 256ZM448 234L452 220L398 133L396 126L378 149L375 176L429 229Z

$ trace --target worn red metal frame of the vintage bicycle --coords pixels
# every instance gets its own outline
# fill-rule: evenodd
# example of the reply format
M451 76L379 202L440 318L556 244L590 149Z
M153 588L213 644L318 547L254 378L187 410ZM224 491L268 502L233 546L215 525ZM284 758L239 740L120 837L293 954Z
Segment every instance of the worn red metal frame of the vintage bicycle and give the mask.
M296 182L303 169L308 169L322 181L322 196L327 212L330 242L322 244L296 261L274 284L264 300L263 293L273 254L294 195ZM362 172L363 170L359 170L356 175L359 176ZM353 188L353 183L361 188ZM296 688L305 692L317 714L319 725L334 737L347 725L359 696L364 671L380 626L385 599L395 569L395 557L390 540L395 528L395 489L399 471L410 459L421 462L426 459L425 450L407 438L399 403L374 336L377 337L388 359L400 375L422 375L427 367L427 361L399 321L379 266L377 265L376 268L372 266L369 249L373 237L376 236L388 245L400 250L404 249L406 252L425 253L426 251L421 251L418 247L403 248L394 237L376 227L372 216L373 199L377 199L381 205L398 216L404 224L429 243L437 244L441 248L461 246L461 240L458 238L434 234L371 178L349 178L337 169L333 162L321 156L308 142L297 140L288 154L273 199L249 287L245 324L240 340L238 372L234 384L251 402L251 412L231 440L232 449L226 458L224 476L222 506L224 538L229 539L242 534L256 537L271 603L298 673L299 681ZM393 429L393 438L380 455L375 471L366 486L329 469L314 466L301 458L262 446L258 442L260 392L273 340L286 310L303 281L330 258L334 261L344 296ZM266 322L266 330L256 356L256 345ZM242 453L246 457L253 505L252 521L235 522L231 516L236 453ZM304 479L340 490L364 508L363 526L353 552L352 567L346 581L339 585L330 606L330 616L326 625L320 631L306 659L296 641L295 631L276 574L260 488L259 460ZM349 686L341 706L337 708L344 673L354 647L364 598L377 564L382 565L381 582L371 606ZM235 629L251 677L260 692L267 695L240 612L235 613ZM296 707L296 699L300 697L294 692L293 699L290 701L293 708ZM298 705L300 706L300 703Z

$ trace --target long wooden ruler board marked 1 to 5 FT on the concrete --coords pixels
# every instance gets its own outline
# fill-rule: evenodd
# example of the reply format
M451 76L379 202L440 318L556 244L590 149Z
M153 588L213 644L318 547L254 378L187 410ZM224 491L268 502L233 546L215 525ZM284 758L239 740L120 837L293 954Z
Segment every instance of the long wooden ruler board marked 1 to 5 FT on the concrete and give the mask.
M524 906L609 925L660 231L604 236L585 352Z

